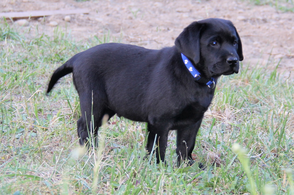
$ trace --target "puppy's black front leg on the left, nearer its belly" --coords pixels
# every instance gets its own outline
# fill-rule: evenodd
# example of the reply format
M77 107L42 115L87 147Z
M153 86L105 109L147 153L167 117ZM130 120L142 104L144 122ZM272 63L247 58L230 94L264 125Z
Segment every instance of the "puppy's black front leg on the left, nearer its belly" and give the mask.
M155 141L155 144L158 146L158 148L155 150L156 164L160 163L160 160L165 162L164 158L167 147L168 132L169 129L167 125L151 125L148 123L148 140L146 150L150 154Z

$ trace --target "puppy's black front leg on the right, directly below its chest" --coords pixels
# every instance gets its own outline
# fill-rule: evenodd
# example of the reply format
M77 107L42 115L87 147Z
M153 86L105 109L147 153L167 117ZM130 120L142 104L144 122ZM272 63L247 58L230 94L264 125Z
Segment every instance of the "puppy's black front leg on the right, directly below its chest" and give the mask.
M189 165L193 165L194 161L192 158L192 152L195 146L195 140L201 122L202 119L193 125L177 130L176 151L178 155L178 166L181 165L183 160L188 160Z

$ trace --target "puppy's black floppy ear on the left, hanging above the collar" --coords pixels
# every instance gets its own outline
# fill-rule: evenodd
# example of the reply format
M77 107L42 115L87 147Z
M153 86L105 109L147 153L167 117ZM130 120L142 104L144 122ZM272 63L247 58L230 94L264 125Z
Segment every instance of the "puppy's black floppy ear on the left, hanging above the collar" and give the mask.
M179 52L193 59L195 64L198 64L200 60L199 35L201 27L202 24L193 22L175 40L175 45Z

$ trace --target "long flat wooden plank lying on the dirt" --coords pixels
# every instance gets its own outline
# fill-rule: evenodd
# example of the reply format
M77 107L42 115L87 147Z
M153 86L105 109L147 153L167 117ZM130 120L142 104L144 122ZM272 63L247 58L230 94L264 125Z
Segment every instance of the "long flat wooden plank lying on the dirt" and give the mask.
M23 12L4 12L0 13L0 18L5 17L13 19L23 19L23 18L39 18L44 16L52 16L56 14L71 15L79 13L89 13L88 9L72 9L72 10L46 10L46 11L23 11Z

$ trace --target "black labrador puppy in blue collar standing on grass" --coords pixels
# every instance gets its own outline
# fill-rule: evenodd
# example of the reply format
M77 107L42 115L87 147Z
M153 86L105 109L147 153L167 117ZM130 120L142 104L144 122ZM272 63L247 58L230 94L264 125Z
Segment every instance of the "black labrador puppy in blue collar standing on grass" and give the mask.
M191 23L175 46L160 50L106 43L74 55L52 75L73 73L80 97L80 144L96 135L105 114L148 123L146 150L156 142L157 163L164 161L168 132L177 131L178 165L193 164L192 151L203 114L221 75L238 73L243 60L240 37L229 20ZM92 105L93 104L93 105ZM95 130L88 132L91 116Z

